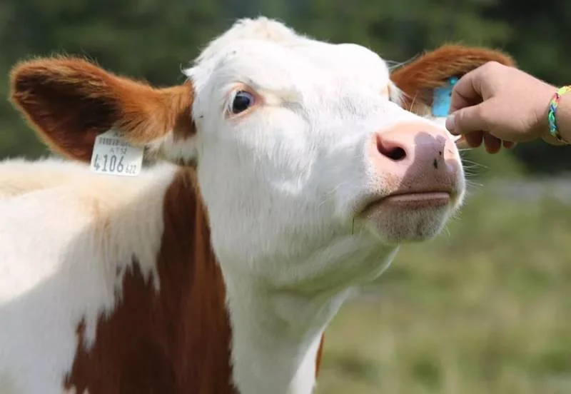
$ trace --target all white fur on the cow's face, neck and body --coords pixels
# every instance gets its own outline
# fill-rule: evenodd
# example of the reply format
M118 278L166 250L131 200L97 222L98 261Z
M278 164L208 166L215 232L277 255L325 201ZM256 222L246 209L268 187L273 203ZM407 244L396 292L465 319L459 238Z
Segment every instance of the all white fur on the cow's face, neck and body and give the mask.
M398 89L372 51L315 41L268 19L239 21L185 73L195 87L198 133L149 146L198 163L227 287L234 380L242 394L309 394L320 335L350 291L378 277L398 249L387 241L390 226L353 221L363 198L388 193L367 143L400 121L426 120L389 100L388 86L393 101ZM265 104L226 118L236 83ZM86 315L93 340L96 316L116 303L121 276L112 262L136 253L143 272L156 275L173 168L125 179L73 163L9 162L0 181L10 171L22 181L0 186L0 197L11 196L0 200L0 388L57 394L79 319ZM463 193L459 173L450 207L402 221L413 232L422 219L435 235Z

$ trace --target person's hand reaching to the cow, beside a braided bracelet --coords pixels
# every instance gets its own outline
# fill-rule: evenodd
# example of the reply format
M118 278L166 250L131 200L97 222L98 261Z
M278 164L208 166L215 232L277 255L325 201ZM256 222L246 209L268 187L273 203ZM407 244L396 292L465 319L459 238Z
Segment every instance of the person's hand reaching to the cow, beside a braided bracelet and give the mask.
M470 147L483 142L489 153L537 138L557 145L547 123L555 91L555 86L524 71L489 62L455 84L446 128L463 134Z

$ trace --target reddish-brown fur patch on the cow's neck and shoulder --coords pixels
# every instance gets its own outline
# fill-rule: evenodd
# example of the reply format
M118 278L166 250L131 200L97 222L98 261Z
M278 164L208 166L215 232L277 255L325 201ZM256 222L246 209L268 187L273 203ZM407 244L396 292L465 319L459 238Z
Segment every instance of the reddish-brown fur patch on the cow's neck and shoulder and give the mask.
M166 192L157 270L160 293L136 261L120 303L101 316L96 342L79 345L67 389L89 394L236 394L225 289L192 169Z

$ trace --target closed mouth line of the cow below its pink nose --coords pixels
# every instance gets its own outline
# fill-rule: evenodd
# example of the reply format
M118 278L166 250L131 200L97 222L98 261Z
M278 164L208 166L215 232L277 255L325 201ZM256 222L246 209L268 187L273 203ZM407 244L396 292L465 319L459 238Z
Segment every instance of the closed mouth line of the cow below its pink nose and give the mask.
M369 201L360 215L367 216L378 208L389 209L426 209L448 206L452 200L451 191L415 191L409 193L393 193L382 198Z

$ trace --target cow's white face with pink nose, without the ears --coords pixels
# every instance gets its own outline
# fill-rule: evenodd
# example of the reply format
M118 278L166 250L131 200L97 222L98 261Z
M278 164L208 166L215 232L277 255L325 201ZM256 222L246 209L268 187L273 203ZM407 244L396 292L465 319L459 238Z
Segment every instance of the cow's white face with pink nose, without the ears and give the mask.
M333 238L397 244L440 231L464 195L458 149L400 106L383 59L293 34L227 34L186 71L197 133L183 158L198 163L218 251L287 259Z

